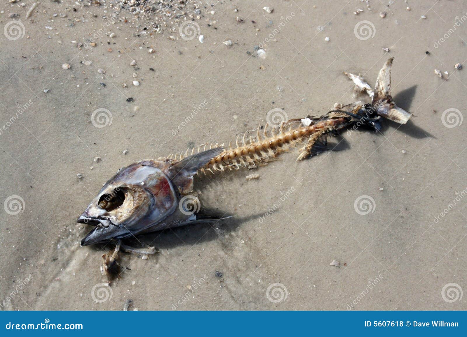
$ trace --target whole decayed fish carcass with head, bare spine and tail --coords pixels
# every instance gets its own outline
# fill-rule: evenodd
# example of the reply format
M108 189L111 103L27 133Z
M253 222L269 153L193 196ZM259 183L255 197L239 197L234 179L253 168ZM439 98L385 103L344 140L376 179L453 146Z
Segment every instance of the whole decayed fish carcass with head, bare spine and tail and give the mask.
M371 104L359 101L321 117L290 119L270 131L266 124L264 128L258 128L256 138L245 139L245 133L240 144L237 137L234 146L229 143L225 148L215 144L207 150L206 146L202 151L198 148L197 153L193 149L189 154L187 150L185 154L142 160L121 168L77 220L94 226L81 245L115 242L113 254L104 254L103 258L104 270L116 274L120 248L146 258L147 254L156 252L154 247L130 247L126 240L135 238L135 235L227 218L201 210L193 191L193 179L197 174L264 165L298 144L304 145L297 158L302 160L322 151L329 133L339 133L354 125L366 125L380 131L382 117L405 124L411 114L398 107L390 94L392 61L390 58L380 70L375 89L360 76L345 73L354 81L357 91L372 98Z

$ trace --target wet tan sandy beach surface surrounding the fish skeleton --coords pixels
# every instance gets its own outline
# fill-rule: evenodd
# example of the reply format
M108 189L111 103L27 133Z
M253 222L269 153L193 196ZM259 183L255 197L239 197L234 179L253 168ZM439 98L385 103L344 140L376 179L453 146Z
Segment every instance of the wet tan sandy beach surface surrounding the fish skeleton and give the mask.
M467 1L162 2L0 4L0 308L467 309ZM141 238L106 285L76 219L120 167L322 115L389 57L407 124L197 178L233 218Z

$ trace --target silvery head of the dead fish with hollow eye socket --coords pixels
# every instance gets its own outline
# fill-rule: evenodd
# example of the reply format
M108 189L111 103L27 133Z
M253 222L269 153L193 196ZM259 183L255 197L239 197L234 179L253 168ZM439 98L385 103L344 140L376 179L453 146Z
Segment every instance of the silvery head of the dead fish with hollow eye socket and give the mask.
M81 245L138 234L170 215L177 206L177 194L164 165L143 160L108 180L77 220L95 226Z

